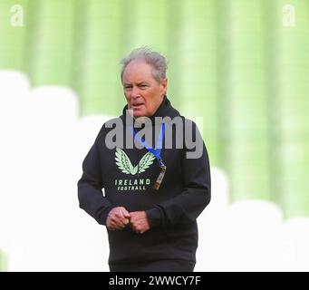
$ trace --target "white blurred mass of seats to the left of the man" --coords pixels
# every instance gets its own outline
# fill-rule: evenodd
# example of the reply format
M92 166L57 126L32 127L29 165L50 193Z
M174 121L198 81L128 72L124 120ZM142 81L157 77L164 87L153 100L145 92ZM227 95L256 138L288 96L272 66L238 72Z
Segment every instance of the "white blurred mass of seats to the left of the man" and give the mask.
M105 228L77 198L86 153L79 140L94 140L93 124L79 126L70 89L29 91L23 74L0 78L0 247L8 270L107 271Z

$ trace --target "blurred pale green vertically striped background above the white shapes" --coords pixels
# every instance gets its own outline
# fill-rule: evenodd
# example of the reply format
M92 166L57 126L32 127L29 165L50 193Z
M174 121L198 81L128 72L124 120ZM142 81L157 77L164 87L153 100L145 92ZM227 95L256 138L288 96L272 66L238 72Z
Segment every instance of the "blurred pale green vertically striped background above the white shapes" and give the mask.
M120 115L121 58L163 53L169 99L203 117L231 201L286 218L309 216L308 35L308 0L0 0L0 69L71 87L81 117Z

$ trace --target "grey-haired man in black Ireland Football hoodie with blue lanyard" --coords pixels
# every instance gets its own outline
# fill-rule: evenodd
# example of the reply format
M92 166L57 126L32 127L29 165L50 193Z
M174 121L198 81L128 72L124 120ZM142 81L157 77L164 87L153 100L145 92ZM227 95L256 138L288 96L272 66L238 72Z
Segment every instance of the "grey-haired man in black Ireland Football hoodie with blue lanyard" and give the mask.
M191 272L196 264L208 153L196 124L171 106L166 69L146 48L122 60L127 105L103 124L82 163L80 207L107 228L111 272Z

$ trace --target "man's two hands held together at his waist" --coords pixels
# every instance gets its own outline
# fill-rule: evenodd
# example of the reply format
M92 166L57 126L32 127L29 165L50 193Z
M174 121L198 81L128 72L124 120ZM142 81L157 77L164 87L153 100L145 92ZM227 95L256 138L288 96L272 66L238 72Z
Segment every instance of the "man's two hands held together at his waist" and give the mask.
M145 211L128 212L123 207L112 208L106 219L106 227L110 230L121 230L128 225L139 234L150 229Z

